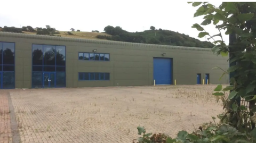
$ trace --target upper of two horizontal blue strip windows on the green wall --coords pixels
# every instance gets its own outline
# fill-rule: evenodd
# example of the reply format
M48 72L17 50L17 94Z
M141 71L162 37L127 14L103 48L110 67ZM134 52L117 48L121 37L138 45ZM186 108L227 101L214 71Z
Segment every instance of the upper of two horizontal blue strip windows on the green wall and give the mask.
M109 61L109 54L102 53L78 53L78 60L84 61Z

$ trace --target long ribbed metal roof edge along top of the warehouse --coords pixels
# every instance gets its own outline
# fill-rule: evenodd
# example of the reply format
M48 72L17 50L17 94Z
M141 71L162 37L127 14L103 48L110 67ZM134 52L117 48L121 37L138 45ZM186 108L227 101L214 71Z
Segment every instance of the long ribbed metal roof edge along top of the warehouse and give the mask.
M17 38L30 38L30 39L40 39L40 40L70 41L70 42L92 43L92 44L139 46L139 47L150 47L150 48L182 49L182 50L188 50L188 51L211 52L211 48L197 48L197 47L183 47L183 46L171 46L171 45L129 43L129 42L123 42L123 41L94 40L94 39L82 39L82 38L67 38L67 37L31 35L31 34L26 34L26 33L13 33L13 32L0 32L0 36L2 36L2 37L17 37Z

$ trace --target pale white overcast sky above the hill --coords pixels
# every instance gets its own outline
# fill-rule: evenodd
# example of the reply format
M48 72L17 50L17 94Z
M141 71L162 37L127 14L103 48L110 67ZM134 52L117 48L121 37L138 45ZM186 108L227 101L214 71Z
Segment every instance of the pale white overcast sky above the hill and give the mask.
M210 2L219 6L221 2ZM148 30L150 26L162 28L190 37L198 38L198 31L192 29L194 23L200 24L203 17L193 18L197 7L187 2L170 0L8 0L1 2L0 27L50 25L61 31L70 28L92 31L110 26L120 26L130 32ZM218 34L214 26L205 27L210 35ZM222 31L226 44L228 36ZM215 38L216 40L216 38Z

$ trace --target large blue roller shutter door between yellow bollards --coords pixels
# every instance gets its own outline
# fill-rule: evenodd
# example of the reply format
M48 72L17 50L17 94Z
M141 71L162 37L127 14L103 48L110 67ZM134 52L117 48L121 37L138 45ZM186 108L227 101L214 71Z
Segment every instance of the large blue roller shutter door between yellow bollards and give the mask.
M172 58L154 57L154 80L156 85L172 84Z

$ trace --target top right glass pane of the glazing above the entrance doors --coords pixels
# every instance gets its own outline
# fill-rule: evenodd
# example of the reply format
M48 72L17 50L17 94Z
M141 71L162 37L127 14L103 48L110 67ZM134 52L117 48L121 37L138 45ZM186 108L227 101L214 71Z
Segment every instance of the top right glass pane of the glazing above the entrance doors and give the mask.
M66 65L65 46L56 46L56 65Z

